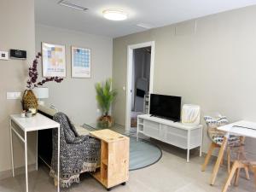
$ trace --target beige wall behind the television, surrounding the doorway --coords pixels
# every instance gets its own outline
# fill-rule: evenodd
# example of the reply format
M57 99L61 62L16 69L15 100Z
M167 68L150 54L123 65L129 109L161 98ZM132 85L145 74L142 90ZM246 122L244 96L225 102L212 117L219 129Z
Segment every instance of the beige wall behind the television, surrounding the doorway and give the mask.
M202 116L218 111L230 121L256 121L255 18L256 6L252 6L115 38L113 81L119 96L113 112L117 122L125 125L122 87L126 85L127 45L148 41L155 41L155 93L199 104ZM256 154L256 142L248 138L247 143L247 151ZM205 131L204 151L208 144Z

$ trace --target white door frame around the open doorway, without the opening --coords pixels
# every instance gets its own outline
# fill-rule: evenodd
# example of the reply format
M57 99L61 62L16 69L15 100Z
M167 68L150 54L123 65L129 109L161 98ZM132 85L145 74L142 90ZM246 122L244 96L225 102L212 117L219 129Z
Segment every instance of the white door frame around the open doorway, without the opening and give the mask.
M132 83L132 67L133 67L133 50L143 47L151 47L150 56L150 80L149 94L153 93L154 80L154 41L148 41L142 44L131 44L127 47L127 79L126 79L126 109L125 109L125 130L131 128L131 83ZM150 95L149 95L150 96Z

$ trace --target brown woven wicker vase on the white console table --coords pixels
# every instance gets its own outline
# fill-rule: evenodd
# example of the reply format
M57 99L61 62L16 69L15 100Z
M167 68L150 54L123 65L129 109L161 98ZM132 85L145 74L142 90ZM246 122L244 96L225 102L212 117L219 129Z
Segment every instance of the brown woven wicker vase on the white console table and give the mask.
M25 90L22 97L23 110L28 111L30 108L35 108L38 111L38 99L32 90Z

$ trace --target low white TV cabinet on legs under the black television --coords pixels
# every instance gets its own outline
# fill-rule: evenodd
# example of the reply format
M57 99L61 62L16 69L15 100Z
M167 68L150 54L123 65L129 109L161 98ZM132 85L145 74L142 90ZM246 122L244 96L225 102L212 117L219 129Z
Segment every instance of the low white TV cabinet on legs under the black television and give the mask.
M152 117L150 114L142 114L137 116L137 139L139 133L187 149L187 162L189 162L189 150L192 148L200 147L201 156L202 125L184 125L172 120Z

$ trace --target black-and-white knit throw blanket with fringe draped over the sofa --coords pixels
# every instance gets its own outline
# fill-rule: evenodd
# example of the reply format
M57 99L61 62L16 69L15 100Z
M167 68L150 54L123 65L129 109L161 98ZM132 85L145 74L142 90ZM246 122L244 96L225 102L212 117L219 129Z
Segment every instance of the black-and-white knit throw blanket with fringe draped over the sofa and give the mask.
M60 186L68 188L72 183L79 183L81 172L95 172L100 156L100 141L90 136L79 136L65 113L56 113L53 118L60 123ZM58 131L52 132L53 151L51 177L57 177Z

